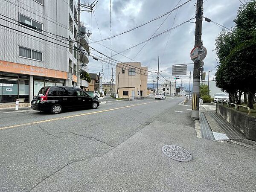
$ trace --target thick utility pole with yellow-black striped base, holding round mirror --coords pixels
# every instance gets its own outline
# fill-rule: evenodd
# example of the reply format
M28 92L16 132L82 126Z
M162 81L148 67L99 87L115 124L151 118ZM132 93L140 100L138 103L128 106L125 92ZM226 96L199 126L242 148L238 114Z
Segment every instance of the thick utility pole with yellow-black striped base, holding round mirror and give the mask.
M196 16L195 16L195 46L202 45L202 20L203 20L203 0L197 0ZM199 95L200 95L200 61L194 62L193 73L193 97L192 97L192 113L193 119L199 119Z

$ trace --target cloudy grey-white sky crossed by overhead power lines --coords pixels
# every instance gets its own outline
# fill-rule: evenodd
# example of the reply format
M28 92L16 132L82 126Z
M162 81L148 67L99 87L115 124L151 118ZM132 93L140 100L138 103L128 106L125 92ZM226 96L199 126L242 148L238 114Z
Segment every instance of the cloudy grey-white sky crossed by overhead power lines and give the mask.
M181 5L186 1L187 0L111 0L112 35L119 34L120 32L154 19L174 9L177 4ZM155 35L189 20L195 15L195 3L196 0L192 0L172 12L169 16L166 15L131 32L112 38L112 49L116 52L121 52L151 38L166 17L167 19L157 30ZM240 4L239 0L204 0L204 17L208 17L227 28L231 28L234 26L233 20L236 18ZM83 21L87 29L90 29L90 32L93 33L90 36L89 42L110 37L110 1L99 0L94 7L94 13L95 15L89 12L82 12L81 14L81 21ZM91 25L90 20L92 20ZM99 25L99 29L96 21ZM191 22L195 22L195 19L191 20ZM204 59L204 71L213 71L211 72L210 79L213 79L216 70L215 67L218 63L213 49L215 48L215 38L221 30L222 29L214 23L207 23L203 20L202 40L203 45L207 48L207 57ZM172 77L172 64L191 63L190 51L194 47L194 31L195 23L187 22L170 32L151 39L140 52L139 50L145 43L123 52L122 54L128 58L122 55L116 55L113 58L122 62L131 62L132 60L140 61L143 66L148 66L148 70L154 71L157 70L157 57L159 55L160 71L163 71L161 74L166 79L170 79ZM111 47L110 40L101 41L99 43L106 47ZM108 56L111 55L110 49L102 47L97 43L92 43L90 46ZM114 51L112 51L112 55L116 54ZM138 52L139 54L137 54ZM99 53L95 51L92 51L92 53L99 55ZM135 57L135 55L137 56ZM88 64L90 73L102 72L102 66L105 77L104 81L109 81L111 78L111 68L113 66L90 58ZM187 74L189 74L189 71L192 71L192 65L188 65ZM156 73L148 73L148 83L152 83L155 77ZM162 77L161 79L163 80ZM208 79L208 73L206 79ZM183 79L183 82L184 81L188 82L189 80Z

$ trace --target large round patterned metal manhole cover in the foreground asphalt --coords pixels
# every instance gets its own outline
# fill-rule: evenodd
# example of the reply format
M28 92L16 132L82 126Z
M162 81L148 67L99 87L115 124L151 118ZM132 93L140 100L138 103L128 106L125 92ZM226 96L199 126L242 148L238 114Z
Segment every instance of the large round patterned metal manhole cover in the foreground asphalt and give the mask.
M167 157L176 161L186 162L193 158L189 151L176 145L164 145L162 151Z

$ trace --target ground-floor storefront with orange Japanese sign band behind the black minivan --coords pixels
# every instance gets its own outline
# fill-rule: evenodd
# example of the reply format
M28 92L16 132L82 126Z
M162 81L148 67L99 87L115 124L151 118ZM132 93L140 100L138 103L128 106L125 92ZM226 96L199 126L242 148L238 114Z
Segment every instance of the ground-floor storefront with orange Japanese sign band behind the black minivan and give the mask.
M44 86L64 86L67 72L0 61L0 103L30 102Z

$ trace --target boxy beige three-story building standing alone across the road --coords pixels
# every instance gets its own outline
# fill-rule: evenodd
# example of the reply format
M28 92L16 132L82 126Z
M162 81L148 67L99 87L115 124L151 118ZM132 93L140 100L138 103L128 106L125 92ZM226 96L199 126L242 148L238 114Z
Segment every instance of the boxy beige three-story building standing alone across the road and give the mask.
M147 96L148 67L140 62L116 64L116 93L119 98Z

